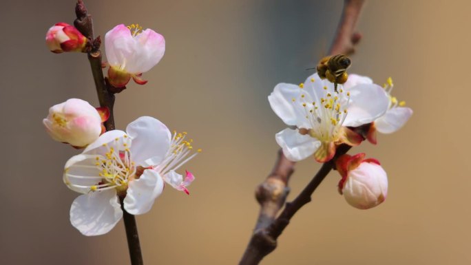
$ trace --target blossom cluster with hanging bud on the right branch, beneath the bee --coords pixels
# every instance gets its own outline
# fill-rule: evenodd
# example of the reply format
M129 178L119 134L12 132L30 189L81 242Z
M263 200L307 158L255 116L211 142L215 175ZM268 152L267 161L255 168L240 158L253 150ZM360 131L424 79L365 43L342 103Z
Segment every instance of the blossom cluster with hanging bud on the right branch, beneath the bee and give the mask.
M391 96L392 87L391 78L381 87L357 74L350 74L343 85L317 73L300 85L280 83L268 99L273 112L289 127L276 134L275 140L289 160L313 156L317 162L334 159L339 145L357 146L364 140L376 144L376 131L391 134L412 115L412 109ZM379 162L364 160L364 156L343 155L335 161L342 176L339 193L358 209L383 202L388 188Z

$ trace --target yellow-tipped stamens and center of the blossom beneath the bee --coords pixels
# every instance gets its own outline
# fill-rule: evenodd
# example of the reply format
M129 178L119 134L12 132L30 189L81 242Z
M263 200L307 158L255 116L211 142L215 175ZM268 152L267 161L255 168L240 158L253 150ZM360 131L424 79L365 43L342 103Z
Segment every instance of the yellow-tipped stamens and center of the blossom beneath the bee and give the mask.
M315 79L311 78L311 83L314 82ZM338 140L339 131L347 116L350 92L344 92L342 85L338 85L337 92L333 85L324 85L322 90L310 93L304 91L303 83L299 87L300 98L293 98L293 103L297 108L302 108L301 111L306 115L309 127L306 128L307 134L322 142Z

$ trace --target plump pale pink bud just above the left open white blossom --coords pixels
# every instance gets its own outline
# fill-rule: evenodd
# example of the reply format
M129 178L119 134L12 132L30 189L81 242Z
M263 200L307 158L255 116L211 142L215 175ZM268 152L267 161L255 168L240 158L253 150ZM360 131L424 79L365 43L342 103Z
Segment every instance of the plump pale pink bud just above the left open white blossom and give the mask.
M87 101L70 98L52 106L43 124L52 139L85 147L98 139L102 132L102 117Z

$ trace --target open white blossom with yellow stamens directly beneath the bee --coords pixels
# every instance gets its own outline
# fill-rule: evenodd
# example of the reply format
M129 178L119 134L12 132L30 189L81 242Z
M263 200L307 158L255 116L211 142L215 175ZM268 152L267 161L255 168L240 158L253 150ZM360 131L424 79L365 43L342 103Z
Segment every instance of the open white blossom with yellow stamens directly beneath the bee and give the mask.
M273 112L289 128L275 139L289 160L314 155L318 162L331 160L337 145L359 145L363 138L351 127L359 127L382 116L388 95L379 85L362 83L346 89L322 80L317 73L304 83L280 83L268 97Z

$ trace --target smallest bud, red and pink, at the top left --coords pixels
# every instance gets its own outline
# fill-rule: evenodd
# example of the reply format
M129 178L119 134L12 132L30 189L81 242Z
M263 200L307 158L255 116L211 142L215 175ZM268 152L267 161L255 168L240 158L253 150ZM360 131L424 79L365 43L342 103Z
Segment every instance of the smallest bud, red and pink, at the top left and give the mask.
M46 45L56 54L61 52L82 52L87 38L79 30L67 23L57 23L46 33Z

